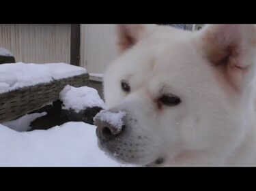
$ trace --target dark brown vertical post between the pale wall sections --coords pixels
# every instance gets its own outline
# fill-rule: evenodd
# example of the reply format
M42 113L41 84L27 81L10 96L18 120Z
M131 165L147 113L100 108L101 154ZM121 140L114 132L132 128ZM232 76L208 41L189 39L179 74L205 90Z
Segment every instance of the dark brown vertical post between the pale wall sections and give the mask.
M80 65L80 24L71 24L70 64Z

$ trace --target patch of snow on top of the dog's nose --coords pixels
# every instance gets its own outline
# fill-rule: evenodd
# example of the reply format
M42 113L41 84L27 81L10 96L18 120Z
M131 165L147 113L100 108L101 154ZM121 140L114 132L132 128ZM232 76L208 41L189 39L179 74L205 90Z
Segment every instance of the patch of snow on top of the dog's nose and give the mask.
M114 113L114 112L102 110L94 117L94 121L101 120L104 122L108 122L112 126L115 126L115 128L117 128L117 131L118 131L118 130L121 130L122 126L124 125L124 122L122 119L124 118L125 115L126 115L126 112L124 111L119 111L117 113Z

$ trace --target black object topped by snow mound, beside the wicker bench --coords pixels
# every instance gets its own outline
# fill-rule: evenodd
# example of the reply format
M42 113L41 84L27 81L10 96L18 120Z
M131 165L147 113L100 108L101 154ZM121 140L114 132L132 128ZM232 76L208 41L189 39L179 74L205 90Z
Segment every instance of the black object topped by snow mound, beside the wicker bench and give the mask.
M102 109L105 109L105 104L96 89L87 86L75 88L67 85L59 93L58 101L34 111L35 113L46 112L47 114L31 120L28 131L48 129L66 122L94 124L94 116ZM26 116L29 117L30 115ZM23 117L18 120L23 121ZM13 122L7 126L12 126Z

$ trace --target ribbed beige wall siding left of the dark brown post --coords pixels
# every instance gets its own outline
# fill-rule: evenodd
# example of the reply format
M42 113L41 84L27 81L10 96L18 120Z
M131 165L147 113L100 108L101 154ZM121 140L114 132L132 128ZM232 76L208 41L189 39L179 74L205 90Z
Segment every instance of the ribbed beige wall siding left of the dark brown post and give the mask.
M70 24L0 24L0 46L16 62L70 63Z

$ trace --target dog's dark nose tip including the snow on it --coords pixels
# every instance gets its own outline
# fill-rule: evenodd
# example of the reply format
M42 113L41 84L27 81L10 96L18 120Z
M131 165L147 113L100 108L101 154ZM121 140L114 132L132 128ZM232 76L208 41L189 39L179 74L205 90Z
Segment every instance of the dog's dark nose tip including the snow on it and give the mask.
M101 141L109 141L124 129L124 117L126 114L124 111L111 112L101 111L94 118L94 124L96 124L96 135Z

